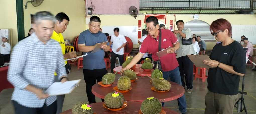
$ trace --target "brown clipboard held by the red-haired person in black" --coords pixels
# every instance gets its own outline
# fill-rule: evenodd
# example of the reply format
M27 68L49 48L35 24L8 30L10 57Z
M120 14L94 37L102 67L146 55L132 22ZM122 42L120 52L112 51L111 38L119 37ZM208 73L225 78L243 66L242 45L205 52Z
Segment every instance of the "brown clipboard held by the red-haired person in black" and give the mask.
M211 60L208 55L188 55L188 58L193 62L196 67L210 68L204 64L204 60Z

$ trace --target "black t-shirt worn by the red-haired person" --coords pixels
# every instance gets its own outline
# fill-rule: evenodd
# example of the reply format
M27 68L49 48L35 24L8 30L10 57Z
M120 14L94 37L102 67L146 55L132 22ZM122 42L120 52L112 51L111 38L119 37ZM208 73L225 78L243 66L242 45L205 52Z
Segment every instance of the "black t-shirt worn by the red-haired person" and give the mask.
M210 59L220 61L233 67L233 70L245 74L246 55L243 47L237 41L227 46L219 43L214 46ZM240 76L226 72L220 68L210 68L208 72L208 90L223 95L237 95Z

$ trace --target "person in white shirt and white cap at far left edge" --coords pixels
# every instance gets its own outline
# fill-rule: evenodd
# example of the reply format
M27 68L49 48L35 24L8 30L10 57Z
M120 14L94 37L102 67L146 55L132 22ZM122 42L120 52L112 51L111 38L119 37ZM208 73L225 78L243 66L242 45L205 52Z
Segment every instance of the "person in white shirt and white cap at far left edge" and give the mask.
M4 58L4 62L9 62L10 61L10 51L11 51L11 46L7 42L9 40L8 36L1 36L2 37L2 44L0 46L0 54Z

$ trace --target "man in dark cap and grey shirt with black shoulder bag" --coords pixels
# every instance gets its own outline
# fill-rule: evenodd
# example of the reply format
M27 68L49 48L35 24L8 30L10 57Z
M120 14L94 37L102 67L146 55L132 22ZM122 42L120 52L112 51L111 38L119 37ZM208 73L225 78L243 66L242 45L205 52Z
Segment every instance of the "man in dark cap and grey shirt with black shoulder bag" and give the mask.
M181 44L177 50L177 60L179 62L179 72L181 76L182 86L185 88L187 84L187 93L192 93L192 82L193 82L193 63L187 55L195 54L192 44L182 45L182 39L188 40L192 33L190 29L184 29L183 20L176 22L178 30L173 31L177 35L178 42ZM184 82L184 75L186 83Z

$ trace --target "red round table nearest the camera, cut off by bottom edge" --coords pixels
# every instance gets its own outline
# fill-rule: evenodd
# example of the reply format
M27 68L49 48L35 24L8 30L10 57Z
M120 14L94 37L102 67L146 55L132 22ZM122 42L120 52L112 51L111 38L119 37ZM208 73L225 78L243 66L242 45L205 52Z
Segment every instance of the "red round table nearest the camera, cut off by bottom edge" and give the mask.
M92 106L92 109L97 114L138 114L138 111L140 110L141 103L140 102L128 102L128 106L120 111L110 111L103 107L104 102L101 103L93 103L90 104ZM175 111L172 111L170 109L162 107L162 109L166 112L166 114L178 114ZM72 109L69 109L65 112L62 112L61 114L72 114Z

